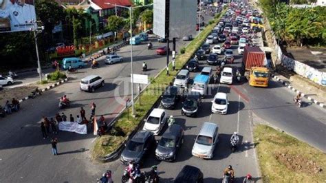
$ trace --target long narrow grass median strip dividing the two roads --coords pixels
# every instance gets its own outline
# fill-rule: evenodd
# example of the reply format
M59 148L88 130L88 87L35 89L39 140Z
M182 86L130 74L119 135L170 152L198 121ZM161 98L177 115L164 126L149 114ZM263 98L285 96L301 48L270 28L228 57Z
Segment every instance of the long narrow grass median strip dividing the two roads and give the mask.
M221 14L224 14L226 10L223 10ZM131 117L131 107L124 110L122 115L118 118L116 123L113 125L115 129L121 129L125 136L120 136L120 138L125 138L128 136L133 130L135 130L142 118L146 115L146 113L151 109L154 103L160 98L164 89L169 85L169 83L173 80L177 71L182 69L182 67L188 62L189 59L193 57L196 50L204 43L206 37L215 27L215 24L219 21L219 17L221 14L218 14L218 18L213 20L213 23L207 25L204 30L202 30L200 36L196 36L190 44L185 47L184 54L177 55L175 58L175 71L172 70L172 65L169 65L169 76L166 75L166 72L163 71L157 78L151 80L151 85L147 87L144 92L140 95L141 104L139 103L139 98L135 100L135 117ZM128 111L129 110L129 118ZM100 145L103 138L112 139L113 134L110 132L109 135L97 138L94 148L91 150L91 155L93 158L98 158L101 155L107 155L117 149L120 143L112 142L107 146ZM110 141L111 142L111 141Z

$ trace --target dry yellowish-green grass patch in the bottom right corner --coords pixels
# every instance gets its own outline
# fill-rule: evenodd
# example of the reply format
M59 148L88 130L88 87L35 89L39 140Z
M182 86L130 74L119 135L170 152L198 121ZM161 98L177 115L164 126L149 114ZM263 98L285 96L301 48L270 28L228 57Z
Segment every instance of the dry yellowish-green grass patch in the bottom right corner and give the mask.
M254 127L254 140L263 182L326 181L326 155L318 149L266 125Z

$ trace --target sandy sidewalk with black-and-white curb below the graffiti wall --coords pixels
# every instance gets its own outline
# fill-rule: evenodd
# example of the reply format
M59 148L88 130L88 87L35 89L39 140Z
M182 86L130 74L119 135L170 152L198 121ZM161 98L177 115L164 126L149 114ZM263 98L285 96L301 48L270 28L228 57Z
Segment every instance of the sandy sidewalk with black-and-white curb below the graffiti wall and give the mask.
M292 91L298 93L301 92L303 97L310 100L312 103L319 105L326 109L326 88L313 83L307 78L303 78L299 75L291 76L290 79L285 78L281 74L275 73L274 79L283 83Z

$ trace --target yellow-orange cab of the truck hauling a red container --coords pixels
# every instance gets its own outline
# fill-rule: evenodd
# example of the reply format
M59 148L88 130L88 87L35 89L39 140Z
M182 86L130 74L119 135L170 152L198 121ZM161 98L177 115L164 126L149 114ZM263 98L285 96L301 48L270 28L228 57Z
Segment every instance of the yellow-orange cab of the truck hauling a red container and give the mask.
M270 81L270 69L267 67L251 67L249 85L253 87L268 87Z

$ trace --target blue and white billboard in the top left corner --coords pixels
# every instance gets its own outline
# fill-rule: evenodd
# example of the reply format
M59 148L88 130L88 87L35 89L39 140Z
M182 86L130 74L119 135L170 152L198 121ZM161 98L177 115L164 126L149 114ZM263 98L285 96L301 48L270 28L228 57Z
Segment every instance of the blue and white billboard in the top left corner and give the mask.
M0 0L0 32L30 31L36 27L33 21L33 0Z

